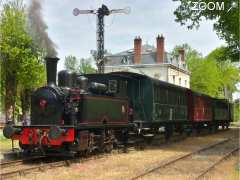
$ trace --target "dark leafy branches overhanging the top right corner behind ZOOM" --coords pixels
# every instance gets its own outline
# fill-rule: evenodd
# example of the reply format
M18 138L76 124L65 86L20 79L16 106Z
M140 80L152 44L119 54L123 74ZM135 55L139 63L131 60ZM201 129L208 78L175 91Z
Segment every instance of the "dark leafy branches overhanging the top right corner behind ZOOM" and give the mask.
M194 3L192 1L178 1L180 1L180 5L174 11L176 22L192 29L198 28L203 18L206 20L215 20L213 25L214 30L228 44L226 54L228 54L231 61L239 60L239 4L237 0L213 0L211 3L209 0L196 1L198 2L197 7L200 6L200 2L210 7L203 10L194 10ZM214 9L212 9L213 4L215 6Z

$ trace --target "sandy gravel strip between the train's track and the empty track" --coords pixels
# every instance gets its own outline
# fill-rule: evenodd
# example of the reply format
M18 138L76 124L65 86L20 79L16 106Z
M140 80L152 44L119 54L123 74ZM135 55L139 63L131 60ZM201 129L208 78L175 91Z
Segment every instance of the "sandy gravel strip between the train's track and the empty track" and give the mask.
M75 179L131 179L132 177L143 173L147 169L155 167L160 162L169 158L174 158L188 152L197 150L208 144L221 141L225 138L239 135L239 129L233 128L229 131L222 131L217 134L189 137L185 140L173 144L149 147L143 151L130 151L124 153L112 153L106 157L89 160L84 163L72 164L70 167L46 170L41 173L26 175L16 179L45 179L45 180L75 180ZM239 136L238 136L239 137ZM225 162L223 162L225 163ZM227 162L226 162L227 163ZM234 163L227 163L229 169L234 169ZM215 172L215 171L214 171ZM234 172L231 171L231 172ZM235 177L232 173L224 177L229 179ZM239 171L238 171L239 173ZM210 174L210 179L221 179L221 171L216 171L214 175ZM184 179L181 175L177 179ZM216 178L215 178L216 177ZM159 179L151 177L152 179ZM162 178L161 178L162 179ZM175 179L175 178L173 178ZM232 178L231 178L232 179Z

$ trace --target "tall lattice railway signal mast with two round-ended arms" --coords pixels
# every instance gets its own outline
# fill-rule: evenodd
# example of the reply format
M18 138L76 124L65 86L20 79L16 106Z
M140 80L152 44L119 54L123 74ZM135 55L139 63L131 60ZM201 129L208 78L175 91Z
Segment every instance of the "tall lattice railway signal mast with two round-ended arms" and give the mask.
M104 17L114 13L129 14L130 8L109 10L108 7L103 4L100 8L93 10L79 10L78 8L73 9L74 16L78 16L79 14L94 14L97 17L96 63L98 67L98 73L104 73Z

